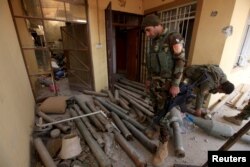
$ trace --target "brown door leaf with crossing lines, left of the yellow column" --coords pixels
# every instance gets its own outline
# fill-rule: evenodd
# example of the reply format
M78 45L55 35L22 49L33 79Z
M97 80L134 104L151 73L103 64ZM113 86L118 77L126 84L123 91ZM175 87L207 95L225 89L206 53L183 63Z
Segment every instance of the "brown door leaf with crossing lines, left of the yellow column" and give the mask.
M61 27L61 33L70 88L78 91L92 90L93 77L87 24L68 23Z

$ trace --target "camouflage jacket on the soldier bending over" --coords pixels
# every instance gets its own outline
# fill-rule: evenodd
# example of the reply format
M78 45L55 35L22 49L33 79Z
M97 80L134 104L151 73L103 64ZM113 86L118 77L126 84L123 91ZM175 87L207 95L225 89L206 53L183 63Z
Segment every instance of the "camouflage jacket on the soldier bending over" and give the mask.
M197 81L204 73L207 73L206 81L197 87L196 109L200 109L204 102L204 97L209 93L217 93L219 86L227 81L226 74L218 65L192 65L184 70L185 78L189 78L191 82Z

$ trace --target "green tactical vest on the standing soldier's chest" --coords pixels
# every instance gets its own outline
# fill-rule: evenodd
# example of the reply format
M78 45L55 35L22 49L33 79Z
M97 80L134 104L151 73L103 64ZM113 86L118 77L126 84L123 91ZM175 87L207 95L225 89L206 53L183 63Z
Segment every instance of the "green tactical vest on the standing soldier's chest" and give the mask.
M147 68L152 76L160 76L163 78L172 78L174 69L174 59L171 50L168 47L163 48L163 43L167 39L169 33L166 33L159 42L158 50L152 48L147 55ZM155 46L153 46L155 47Z

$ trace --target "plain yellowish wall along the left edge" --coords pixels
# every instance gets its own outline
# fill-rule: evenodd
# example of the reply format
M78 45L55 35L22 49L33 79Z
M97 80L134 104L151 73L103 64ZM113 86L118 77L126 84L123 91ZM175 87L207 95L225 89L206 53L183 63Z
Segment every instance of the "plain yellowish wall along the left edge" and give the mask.
M0 166L29 166L34 98L7 0L0 11Z

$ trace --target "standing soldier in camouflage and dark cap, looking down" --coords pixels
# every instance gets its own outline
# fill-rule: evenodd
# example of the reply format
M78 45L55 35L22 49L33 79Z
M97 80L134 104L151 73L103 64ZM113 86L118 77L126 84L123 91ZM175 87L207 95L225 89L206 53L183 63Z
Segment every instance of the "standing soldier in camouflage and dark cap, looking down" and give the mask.
M175 97L180 92L179 84L185 65L184 40L179 33L164 29L159 17L154 14L143 19L142 28L146 36L152 39L147 55L146 91L150 93L154 109L159 112L164 110L168 96ZM162 145L153 158L154 165L162 164L168 156L169 133L164 119L160 121Z

